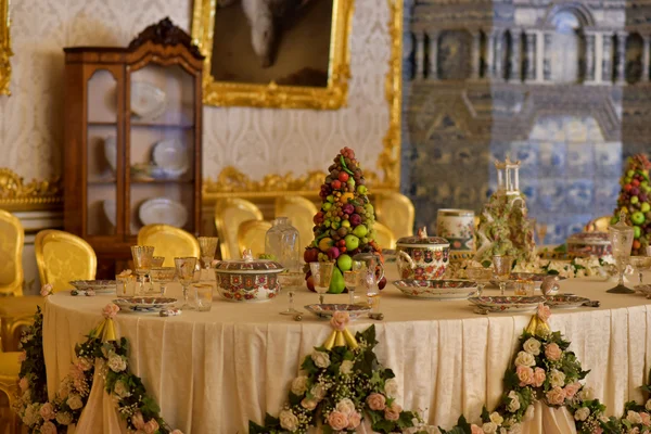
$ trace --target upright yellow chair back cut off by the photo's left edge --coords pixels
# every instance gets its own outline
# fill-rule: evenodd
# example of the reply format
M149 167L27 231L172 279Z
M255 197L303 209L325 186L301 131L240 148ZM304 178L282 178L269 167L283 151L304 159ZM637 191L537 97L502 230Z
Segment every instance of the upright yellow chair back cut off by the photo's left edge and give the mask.
M21 220L0 209L0 296L23 295L23 244Z

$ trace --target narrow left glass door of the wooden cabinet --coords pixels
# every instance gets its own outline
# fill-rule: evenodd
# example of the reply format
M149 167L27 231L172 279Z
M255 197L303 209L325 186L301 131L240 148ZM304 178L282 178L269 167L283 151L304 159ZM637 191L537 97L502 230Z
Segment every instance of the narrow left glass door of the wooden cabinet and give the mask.
M97 71L88 81L87 213L88 235L117 232L117 81Z

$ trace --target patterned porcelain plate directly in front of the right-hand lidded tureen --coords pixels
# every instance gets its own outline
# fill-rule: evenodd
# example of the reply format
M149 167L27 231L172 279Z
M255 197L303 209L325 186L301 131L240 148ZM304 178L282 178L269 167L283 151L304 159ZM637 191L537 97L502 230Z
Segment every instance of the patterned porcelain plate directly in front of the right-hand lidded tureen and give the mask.
M412 298L465 299L477 291L469 280L397 280L393 284Z

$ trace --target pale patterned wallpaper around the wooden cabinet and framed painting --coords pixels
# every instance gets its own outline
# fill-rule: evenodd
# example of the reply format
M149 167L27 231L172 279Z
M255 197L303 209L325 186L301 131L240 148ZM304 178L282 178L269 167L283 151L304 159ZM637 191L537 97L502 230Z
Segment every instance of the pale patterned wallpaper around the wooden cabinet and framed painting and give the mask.
M165 16L189 30L191 0L21 0L11 3L12 95L0 98L0 167L21 176L61 175L63 47L126 46ZM363 16L363 20L361 18ZM347 145L376 170L388 125L390 10L356 0L348 106L333 112L204 107L204 175L229 165L254 180L324 170ZM289 157L291 155L291 157Z

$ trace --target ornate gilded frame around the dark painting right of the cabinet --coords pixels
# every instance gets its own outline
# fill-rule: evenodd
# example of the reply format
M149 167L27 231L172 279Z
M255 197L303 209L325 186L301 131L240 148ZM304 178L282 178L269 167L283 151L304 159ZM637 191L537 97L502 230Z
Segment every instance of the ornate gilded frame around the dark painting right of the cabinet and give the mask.
M217 80L212 74L213 61L216 60L213 56L215 21L216 14L220 13L217 3L222 4L225 0L195 0L192 15L192 38L205 55L204 104L315 110L336 110L346 104L353 0L332 0L327 84L318 87L285 86L275 80L268 84ZM225 43L228 42L226 39Z

